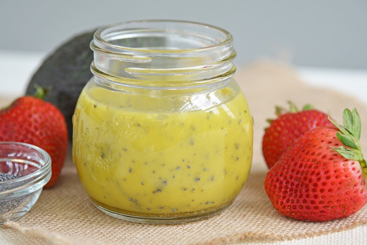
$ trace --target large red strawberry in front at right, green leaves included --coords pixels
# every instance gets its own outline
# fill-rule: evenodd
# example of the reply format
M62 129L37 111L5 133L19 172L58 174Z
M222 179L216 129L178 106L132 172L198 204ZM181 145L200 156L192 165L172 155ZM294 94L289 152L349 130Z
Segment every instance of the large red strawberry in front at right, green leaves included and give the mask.
M367 168L356 109L343 112L344 126L306 132L270 169L264 189L274 208L297 220L327 221L359 211L367 203Z

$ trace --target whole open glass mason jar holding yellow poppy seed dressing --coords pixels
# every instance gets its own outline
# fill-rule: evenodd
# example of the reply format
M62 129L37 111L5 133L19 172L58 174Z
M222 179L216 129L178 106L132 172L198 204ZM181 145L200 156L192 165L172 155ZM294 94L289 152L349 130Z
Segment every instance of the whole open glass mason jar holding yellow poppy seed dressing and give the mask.
M228 207L247 180L252 116L215 26L133 21L97 30L73 116L73 161L92 203L142 223Z

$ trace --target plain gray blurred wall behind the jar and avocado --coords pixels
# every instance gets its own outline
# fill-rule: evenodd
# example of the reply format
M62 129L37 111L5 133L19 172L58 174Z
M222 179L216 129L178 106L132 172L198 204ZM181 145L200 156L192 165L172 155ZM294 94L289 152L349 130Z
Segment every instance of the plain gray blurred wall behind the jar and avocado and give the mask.
M234 36L236 64L367 69L367 0L0 1L0 50L50 53L73 36L137 19L210 23Z

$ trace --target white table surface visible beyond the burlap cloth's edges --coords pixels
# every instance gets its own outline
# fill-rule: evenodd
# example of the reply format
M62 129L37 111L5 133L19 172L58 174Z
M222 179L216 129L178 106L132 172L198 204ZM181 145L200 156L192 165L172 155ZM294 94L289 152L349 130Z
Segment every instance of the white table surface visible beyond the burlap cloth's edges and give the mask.
M0 50L0 97L16 97L24 94L33 73L46 58L42 52ZM326 69L298 67L299 76L316 87L332 87L356 96L367 103L367 70ZM367 226L350 230L292 241L272 242L272 245L318 245L318 244L366 244ZM252 243L251 243L252 244ZM254 243L255 244L255 243ZM259 243L260 244L260 243ZM261 243L262 244L262 243Z

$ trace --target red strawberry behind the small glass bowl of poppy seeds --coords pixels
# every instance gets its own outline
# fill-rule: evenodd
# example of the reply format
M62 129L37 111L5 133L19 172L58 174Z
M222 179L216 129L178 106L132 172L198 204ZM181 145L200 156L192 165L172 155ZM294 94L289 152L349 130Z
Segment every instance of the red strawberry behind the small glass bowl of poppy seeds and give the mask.
M51 156L52 176L45 187L54 186L59 178L68 149L66 121L61 111L42 96L23 96L0 110L0 141L17 141L39 146Z

